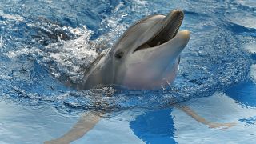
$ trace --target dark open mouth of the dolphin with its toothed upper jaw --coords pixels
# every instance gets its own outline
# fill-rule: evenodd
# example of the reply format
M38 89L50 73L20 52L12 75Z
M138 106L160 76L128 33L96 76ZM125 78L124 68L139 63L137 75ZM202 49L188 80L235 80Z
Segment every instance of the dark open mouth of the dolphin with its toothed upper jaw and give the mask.
M169 42L177 35L178 30L182 25L183 18L184 13L182 10L173 10L170 14L167 14L162 21L158 22L158 25L160 25L158 32L154 34L150 40L143 43L141 46L138 46L134 52L160 46L166 42Z

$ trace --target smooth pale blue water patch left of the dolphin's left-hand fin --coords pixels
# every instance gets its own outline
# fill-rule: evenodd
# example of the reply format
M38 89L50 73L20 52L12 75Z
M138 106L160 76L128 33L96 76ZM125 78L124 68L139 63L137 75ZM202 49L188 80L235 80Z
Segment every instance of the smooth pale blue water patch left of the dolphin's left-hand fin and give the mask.
M79 118L59 114L50 106L20 106L10 102L0 102L0 115L2 144L42 143L70 130Z

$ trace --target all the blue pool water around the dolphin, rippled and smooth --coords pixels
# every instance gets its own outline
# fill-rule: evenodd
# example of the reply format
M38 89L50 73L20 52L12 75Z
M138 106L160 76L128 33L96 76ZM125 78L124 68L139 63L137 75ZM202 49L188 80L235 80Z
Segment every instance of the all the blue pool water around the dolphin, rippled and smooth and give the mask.
M184 10L181 29L191 38L173 86L77 91L62 84L78 82L133 22L174 9ZM107 114L72 143L256 142L255 11L254 0L0 2L0 143L58 138L88 110ZM236 125L210 129L174 103Z

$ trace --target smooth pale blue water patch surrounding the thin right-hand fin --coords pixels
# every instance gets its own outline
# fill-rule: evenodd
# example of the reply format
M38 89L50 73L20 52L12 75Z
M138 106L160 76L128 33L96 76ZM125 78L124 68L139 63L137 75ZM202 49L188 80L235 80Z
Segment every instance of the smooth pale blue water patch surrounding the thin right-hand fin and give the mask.
M230 98L230 95L223 93L215 93L213 96L207 98L194 98L185 103L203 116L203 118L212 122L235 122L236 125L227 130L209 129L201 123L194 121L193 118L190 118L180 110L174 110L171 114L174 118L174 139L176 142L243 143L249 142L249 140L250 142L256 142L256 138L254 137L256 125L248 124L249 122L245 120L250 119L250 123L252 123L251 121L255 122L255 107L244 106L239 101ZM255 103L256 99L254 99L254 106Z

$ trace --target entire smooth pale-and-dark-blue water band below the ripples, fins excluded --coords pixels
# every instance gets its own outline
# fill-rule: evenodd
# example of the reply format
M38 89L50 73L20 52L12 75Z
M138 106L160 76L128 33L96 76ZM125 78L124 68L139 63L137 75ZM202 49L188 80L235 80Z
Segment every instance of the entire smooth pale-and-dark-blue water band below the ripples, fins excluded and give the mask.
M131 109L102 118L93 130L72 143L218 143L247 142L248 139L256 142L256 98L250 97L255 90L252 83L242 84L226 90L226 94L216 92L210 97L180 103L190 106L210 122L235 122L229 129L210 129L177 108ZM42 143L62 136L79 118L78 115L60 115L49 106L31 108L0 102L0 132L3 136L0 142Z

